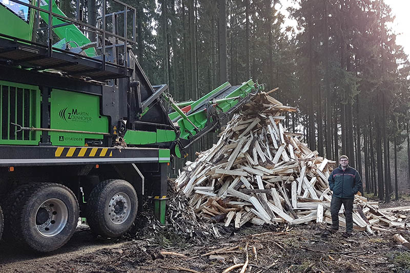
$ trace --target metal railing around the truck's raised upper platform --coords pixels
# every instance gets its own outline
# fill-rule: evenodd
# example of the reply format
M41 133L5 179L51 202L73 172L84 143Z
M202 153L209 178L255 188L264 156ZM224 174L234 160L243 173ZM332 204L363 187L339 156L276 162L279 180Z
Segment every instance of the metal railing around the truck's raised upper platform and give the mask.
M105 70L106 62L110 62L111 65L117 66L117 67L124 67L125 73L127 71L127 56L128 56L128 45L136 44L136 30L135 30L135 24L136 24L136 9L133 8L130 5L127 5L125 3L122 3L118 0L103 0L101 3L101 6L96 8L96 13L99 14L96 18L96 26L90 25L88 22L85 23L83 22L83 16L81 14L84 14L84 8L81 7L80 5L80 0L75 0L75 18L70 18L68 16L63 16L61 14L53 12L53 4L55 3L55 0L48 0L48 9L41 8L40 7L40 0L33 0L31 3L35 2L36 5L24 3L19 0L9 0L14 3L17 3L22 6L26 6L28 8L31 8L32 10L30 12L35 12L35 25L34 29L35 32L43 32L47 30L47 45L45 45L48 49L48 55L49 57L52 57L53 51L62 51L62 52L68 52L68 53L73 53L70 52L69 50L61 50L58 48L53 47L55 44L54 41L56 39L53 37L53 29L64 27L64 26L69 26L69 25L74 25L77 27L84 35L85 37L89 37L90 33L92 35L96 34L96 53L100 57L89 57L85 55L81 55L81 57L84 58L91 58L93 60L95 59L100 59L102 62L102 68ZM43 2L44 3L44 2ZM45 6L45 5L43 5ZM114 7L116 7L114 11ZM110 9L109 13L107 13L107 10ZM42 16L40 16L40 13L46 13L48 16L48 22L46 20L42 20ZM44 15L43 15L44 16ZM119 19L119 16L122 16L124 22L121 22ZM108 20L107 18L111 17L112 20L110 23L111 24L111 29L107 27L108 25ZM131 20L131 35L128 34L128 26L129 26L129 18L132 18ZM57 24L53 25L53 19L59 19L63 21L64 23L62 24ZM124 24L122 27L124 28L123 34L121 35L118 31L118 23ZM5 35L6 36L6 35ZM130 37L131 36L131 37ZM38 45L39 43L33 43ZM117 49L122 49L122 52L124 53L124 56L122 60L124 61L123 64L120 64L120 58L119 58L119 51ZM107 50L109 52L107 52ZM100 52L100 54L98 54ZM107 55L113 55L112 58L108 58Z

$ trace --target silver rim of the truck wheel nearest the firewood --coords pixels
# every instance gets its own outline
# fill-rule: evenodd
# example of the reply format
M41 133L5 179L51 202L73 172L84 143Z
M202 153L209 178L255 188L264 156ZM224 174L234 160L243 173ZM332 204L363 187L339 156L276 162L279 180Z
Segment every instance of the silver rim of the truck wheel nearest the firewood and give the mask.
M131 213L131 199L126 193L117 193L110 199L107 206L107 215L114 224L127 221Z

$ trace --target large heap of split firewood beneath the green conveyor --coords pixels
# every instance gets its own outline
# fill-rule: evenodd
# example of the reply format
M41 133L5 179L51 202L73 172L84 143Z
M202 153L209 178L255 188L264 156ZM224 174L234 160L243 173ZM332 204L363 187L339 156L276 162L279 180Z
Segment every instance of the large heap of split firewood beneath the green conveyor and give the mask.
M283 113L296 111L259 93L235 114L216 144L187 162L176 183L202 219L239 228L247 222L332 223L327 178L335 161L318 156L286 131ZM407 216L381 212L377 202L357 196L354 229L406 229ZM345 224L343 207L340 225Z

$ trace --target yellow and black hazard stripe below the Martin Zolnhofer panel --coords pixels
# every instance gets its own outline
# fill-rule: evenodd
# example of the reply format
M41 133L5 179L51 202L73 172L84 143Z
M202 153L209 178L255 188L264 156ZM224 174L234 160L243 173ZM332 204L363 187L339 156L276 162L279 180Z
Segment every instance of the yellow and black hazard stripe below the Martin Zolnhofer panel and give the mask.
M58 147L54 153L55 157L112 157L112 151L108 148L96 147Z

